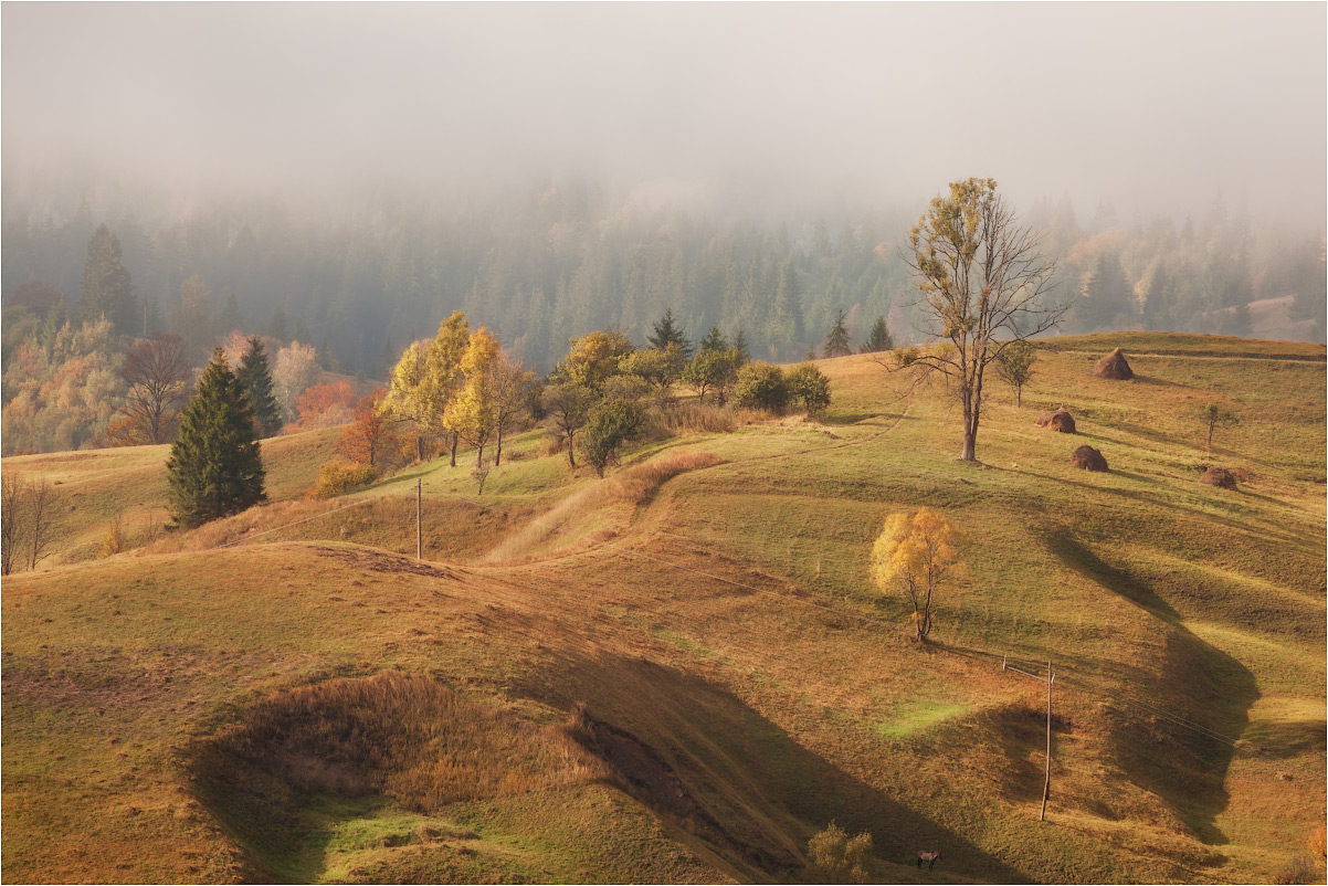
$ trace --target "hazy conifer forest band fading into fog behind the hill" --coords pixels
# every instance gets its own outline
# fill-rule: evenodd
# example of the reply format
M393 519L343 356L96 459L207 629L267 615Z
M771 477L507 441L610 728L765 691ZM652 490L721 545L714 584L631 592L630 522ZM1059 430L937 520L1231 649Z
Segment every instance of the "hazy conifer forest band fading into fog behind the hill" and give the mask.
M126 343L145 332L179 335L195 365L240 332L267 336L274 355L299 341L323 369L382 379L458 310L540 372L591 329L643 343L665 308L691 341L741 332L753 357L777 363L819 355L841 312L855 349L882 316L895 341L918 341L898 248L914 218L720 222L579 183L453 213L389 199L340 215L276 201L173 217L7 205L4 404L40 388L85 418L105 412ZM1220 202L1197 221L1123 222L1108 206L1081 219L1068 199L1041 201L1025 221L1045 230L1054 292L1072 302L1062 332L1250 335L1251 302L1289 296L1297 337L1324 337L1321 231L1258 230ZM21 449L89 440L41 436Z

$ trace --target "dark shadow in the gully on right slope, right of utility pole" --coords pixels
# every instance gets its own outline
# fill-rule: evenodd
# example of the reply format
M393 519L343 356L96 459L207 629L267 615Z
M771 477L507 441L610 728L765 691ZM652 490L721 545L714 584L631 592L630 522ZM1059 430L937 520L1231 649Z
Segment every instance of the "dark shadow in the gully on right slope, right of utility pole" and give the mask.
M1112 729L1112 757L1139 789L1159 797L1208 845L1226 843L1216 817L1230 802L1226 773L1235 740L1250 725L1259 699L1254 675L1240 662L1191 634L1146 580L1112 566L1066 530L1048 534L1048 549L1069 569L1163 622L1162 651L1151 672L1074 683L1121 716Z

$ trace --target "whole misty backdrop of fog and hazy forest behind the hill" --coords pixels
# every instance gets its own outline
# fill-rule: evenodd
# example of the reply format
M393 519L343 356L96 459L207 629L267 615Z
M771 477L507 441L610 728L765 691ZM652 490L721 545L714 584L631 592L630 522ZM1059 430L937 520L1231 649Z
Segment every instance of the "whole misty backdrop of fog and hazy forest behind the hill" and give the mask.
M920 341L902 247L969 175L1045 231L1061 332L1324 340L1321 5L3 15L7 409L57 375L20 344L102 315L365 379L454 310L542 372L665 310L774 361L839 311Z

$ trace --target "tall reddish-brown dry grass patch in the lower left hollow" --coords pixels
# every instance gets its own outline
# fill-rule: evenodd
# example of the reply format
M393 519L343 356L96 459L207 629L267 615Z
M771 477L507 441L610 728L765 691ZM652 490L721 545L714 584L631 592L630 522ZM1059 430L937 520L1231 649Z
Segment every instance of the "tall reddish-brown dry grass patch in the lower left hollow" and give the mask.
M199 800L223 821L278 816L297 794L381 794L434 814L608 776L566 729L457 696L424 676L327 680L254 704L191 753ZM248 804L268 809L238 809Z

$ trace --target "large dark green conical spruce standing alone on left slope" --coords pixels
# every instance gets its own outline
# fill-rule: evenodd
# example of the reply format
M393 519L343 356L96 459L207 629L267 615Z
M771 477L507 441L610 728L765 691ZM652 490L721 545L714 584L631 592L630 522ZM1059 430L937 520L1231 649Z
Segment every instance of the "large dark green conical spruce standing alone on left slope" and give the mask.
M263 476L254 410L226 365L224 351L216 348L181 413L179 436L166 460L175 523L199 526L259 503L267 498Z

